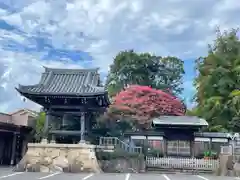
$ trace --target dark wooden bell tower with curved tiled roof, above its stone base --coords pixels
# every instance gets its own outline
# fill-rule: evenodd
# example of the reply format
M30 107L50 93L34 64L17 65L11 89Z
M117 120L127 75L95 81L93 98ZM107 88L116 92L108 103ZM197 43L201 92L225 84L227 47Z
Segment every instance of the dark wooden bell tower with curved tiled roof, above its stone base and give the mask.
M57 142L85 142L96 112L109 105L98 69L45 68L36 85L19 85L17 91L44 107L45 133Z

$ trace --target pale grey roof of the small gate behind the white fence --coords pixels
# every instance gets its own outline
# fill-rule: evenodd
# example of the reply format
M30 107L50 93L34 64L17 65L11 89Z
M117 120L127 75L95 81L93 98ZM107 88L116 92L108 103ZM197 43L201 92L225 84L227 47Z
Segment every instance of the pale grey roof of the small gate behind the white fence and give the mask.
M196 116L161 116L153 119L154 125L208 126L206 120Z

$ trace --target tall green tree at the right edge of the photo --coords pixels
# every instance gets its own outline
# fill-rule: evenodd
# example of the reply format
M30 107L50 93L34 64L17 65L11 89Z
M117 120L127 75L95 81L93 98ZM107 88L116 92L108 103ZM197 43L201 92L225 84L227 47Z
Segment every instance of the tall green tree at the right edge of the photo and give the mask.
M197 109L211 131L240 130L240 41L238 30L221 33L208 55L196 61Z

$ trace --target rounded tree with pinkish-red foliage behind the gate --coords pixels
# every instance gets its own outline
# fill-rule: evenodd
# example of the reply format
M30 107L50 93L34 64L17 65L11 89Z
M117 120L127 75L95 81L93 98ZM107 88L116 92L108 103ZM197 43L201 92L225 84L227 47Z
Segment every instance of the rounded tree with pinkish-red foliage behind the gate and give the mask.
M121 91L108 108L108 119L131 119L139 125L151 125L154 117L184 115L186 108L175 96L148 86L131 85Z

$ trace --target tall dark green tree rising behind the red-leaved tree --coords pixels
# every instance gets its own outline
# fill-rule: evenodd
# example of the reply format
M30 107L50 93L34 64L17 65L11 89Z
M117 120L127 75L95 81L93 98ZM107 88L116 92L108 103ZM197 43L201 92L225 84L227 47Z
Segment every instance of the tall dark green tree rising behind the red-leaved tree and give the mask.
M132 84L182 93L183 61L133 50L120 52L110 66L106 86L110 96Z

